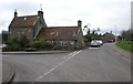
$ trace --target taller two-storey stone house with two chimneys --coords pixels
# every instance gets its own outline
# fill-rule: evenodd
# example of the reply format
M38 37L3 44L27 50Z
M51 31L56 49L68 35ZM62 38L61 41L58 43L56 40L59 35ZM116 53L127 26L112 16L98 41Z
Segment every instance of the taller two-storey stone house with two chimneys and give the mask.
M16 10L14 18L9 25L9 36L14 39L25 35L29 41L34 41L42 28L47 28L42 11L38 11L37 15L18 17Z

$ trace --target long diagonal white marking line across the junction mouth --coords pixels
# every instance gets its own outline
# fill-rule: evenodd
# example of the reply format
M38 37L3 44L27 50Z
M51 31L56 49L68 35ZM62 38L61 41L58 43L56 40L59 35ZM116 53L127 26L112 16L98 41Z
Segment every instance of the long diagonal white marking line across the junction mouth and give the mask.
M40 78L42 78L47 74L51 73L53 70L58 69L60 65L62 65L64 62L69 61L71 57L75 56L80 52L82 52L82 50L70 53L69 55L66 55L66 57L65 57L64 61L62 61L61 63L57 64L54 67L52 67L51 70L49 70L47 73L44 73L43 75L41 75L38 78L35 78L34 81L32 81L31 84L34 83L35 81L39 81Z

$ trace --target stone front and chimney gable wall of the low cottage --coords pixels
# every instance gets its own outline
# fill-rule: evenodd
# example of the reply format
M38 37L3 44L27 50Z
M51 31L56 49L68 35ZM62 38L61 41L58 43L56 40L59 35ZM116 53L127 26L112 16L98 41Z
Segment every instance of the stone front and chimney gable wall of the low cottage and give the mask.
M82 32L82 21L78 21L78 32L75 35L75 39L71 39L68 41L50 41L50 43L61 46L69 46L73 49L83 49L85 46L84 39L83 39L83 32Z

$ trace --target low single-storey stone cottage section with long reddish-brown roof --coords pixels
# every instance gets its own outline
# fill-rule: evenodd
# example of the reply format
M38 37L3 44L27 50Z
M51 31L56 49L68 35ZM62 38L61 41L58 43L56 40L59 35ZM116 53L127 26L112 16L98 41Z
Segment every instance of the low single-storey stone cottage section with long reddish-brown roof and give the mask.
M48 27L47 30L41 29L37 38L45 39L52 44L74 49L82 49L85 45L82 33L82 21L80 20L76 27Z

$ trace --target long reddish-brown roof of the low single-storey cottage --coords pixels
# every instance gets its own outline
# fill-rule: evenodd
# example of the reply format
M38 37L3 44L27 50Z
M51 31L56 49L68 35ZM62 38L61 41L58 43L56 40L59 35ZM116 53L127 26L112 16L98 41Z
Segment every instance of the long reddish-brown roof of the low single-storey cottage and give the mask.
M50 27L42 29L38 39L76 40L78 27Z

